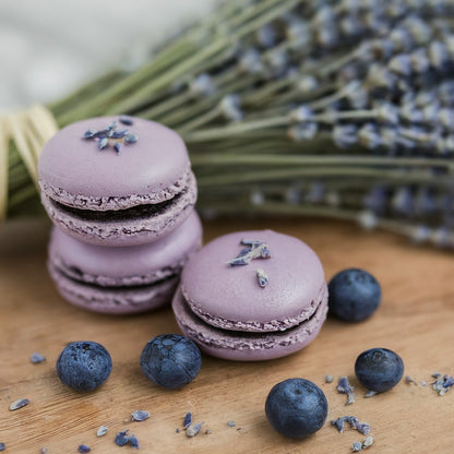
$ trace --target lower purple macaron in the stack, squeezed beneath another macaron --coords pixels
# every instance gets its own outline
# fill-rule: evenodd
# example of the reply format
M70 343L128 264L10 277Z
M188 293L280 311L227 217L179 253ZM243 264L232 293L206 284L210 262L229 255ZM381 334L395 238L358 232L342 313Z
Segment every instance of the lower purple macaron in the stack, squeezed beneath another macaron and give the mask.
M135 313L171 301L180 272L202 242L195 211L166 237L148 244L105 248L53 228L48 268L69 302L95 312Z

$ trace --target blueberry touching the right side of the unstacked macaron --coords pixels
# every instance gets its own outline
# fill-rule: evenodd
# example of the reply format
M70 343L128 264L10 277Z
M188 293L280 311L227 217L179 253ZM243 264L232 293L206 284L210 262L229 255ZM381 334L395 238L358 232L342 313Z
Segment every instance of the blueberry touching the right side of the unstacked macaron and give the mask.
M344 270L328 284L330 312L347 322L359 322L372 315L381 298L380 284L365 270Z

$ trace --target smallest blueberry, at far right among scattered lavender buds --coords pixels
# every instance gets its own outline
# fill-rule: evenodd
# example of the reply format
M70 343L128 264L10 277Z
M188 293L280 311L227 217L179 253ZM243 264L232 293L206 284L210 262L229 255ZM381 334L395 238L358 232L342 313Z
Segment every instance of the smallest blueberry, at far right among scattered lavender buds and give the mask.
M387 348L371 348L356 359L355 374L365 387L382 393L401 381L404 362Z

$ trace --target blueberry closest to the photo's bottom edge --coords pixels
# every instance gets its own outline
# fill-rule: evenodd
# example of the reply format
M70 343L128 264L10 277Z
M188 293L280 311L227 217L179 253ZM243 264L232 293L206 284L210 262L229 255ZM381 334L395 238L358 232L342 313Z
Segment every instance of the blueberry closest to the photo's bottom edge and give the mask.
M277 432L302 439L324 425L327 401L323 391L309 380L288 379L270 391L265 414Z

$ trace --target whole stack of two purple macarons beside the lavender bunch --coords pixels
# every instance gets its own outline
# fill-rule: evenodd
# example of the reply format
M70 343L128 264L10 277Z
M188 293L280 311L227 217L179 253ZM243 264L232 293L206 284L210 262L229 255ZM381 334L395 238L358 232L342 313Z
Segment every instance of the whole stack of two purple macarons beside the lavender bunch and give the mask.
M68 126L38 164L55 224L48 267L73 304L132 313L169 302L201 246L196 182L181 138L134 117Z

